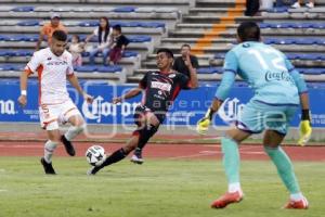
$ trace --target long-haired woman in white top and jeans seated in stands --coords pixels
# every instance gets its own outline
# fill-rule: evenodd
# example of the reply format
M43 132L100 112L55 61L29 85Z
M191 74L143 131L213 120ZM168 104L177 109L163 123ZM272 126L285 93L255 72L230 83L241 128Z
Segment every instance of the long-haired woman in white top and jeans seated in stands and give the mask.
M112 41L112 28L109 26L108 18L103 16L100 18L100 25L93 33L86 38L86 43L90 41L92 37L96 36L99 38L98 46L90 51L89 61L91 65L94 65L94 58L98 53L103 53L103 64L107 64L107 58L109 53L109 44Z

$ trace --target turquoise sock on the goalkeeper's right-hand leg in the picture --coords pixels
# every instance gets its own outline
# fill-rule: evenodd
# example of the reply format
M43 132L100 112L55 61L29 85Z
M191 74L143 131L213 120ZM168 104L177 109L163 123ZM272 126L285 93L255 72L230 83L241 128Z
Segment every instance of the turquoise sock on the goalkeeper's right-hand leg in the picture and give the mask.
M281 146L269 148L264 146L265 152L271 157L272 162L276 166L277 173L290 192L291 195L300 193L300 188L292 168L292 164L288 155Z

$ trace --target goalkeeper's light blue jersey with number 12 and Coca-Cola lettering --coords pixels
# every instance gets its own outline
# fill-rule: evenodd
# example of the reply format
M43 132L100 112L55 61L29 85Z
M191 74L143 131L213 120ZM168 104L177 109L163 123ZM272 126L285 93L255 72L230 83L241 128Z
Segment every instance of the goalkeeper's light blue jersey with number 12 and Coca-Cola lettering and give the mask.
M235 76L243 78L255 91L253 101L275 105L298 105L306 82L287 58L262 42L235 46L224 60L222 81L216 98L225 100Z

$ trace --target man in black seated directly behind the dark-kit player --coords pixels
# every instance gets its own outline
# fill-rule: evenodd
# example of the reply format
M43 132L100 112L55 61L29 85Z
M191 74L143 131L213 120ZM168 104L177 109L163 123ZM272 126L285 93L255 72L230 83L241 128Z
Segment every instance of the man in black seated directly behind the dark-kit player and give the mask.
M190 68L192 67L196 71L199 67L198 61L195 55L191 54L191 46L184 43L181 47L181 56L174 60L172 69L179 73L183 73L190 77Z

